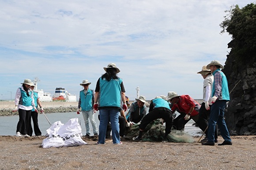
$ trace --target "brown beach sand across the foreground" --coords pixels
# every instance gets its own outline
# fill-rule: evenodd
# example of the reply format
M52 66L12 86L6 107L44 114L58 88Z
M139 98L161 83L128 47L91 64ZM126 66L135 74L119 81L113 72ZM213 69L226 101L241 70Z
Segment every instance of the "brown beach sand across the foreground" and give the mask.
M256 136L233 136L233 145L111 141L79 147L41 148L45 137L0 136L1 170L255 170ZM218 143L222 143L219 137Z

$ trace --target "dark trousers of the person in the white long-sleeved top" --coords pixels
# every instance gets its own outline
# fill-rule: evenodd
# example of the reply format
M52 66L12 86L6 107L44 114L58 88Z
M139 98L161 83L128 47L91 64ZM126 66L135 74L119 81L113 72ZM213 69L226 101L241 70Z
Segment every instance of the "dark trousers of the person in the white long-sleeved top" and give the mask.
M208 118L209 118L210 113L211 113L211 105L209 105L209 106L210 106L210 110L207 111L206 108L205 108L205 103L202 103L202 105L200 107L200 110L199 110L199 119L196 122L198 127L200 129L202 129L203 132L205 131L205 129L208 126ZM206 136L208 135L208 129L205 131L205 134L206 134ZM217 124L215 126L214 137L215 137L215 139L218 138L218 126L217 126Z

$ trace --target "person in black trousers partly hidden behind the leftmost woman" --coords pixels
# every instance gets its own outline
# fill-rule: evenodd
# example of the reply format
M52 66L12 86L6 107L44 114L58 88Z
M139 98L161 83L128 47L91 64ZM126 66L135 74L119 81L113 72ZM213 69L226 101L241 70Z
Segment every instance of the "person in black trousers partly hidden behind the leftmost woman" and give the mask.
M35 107L38 108L38 106L39 106L40 109L41 109L41 112L43 112L44 108L42 107L41 102L39 100L40 97L38 97L38 92L34 91L34 87L35 87L35 84L30 86L30 89L32 90L33 96L34 96ZM33 120L35 135L36 136L42 136L41 130L39 129L39 126L38 126L38 112L35 111L34 108L31 111L31 118ZM30 126L31 126L31 123L30 123ZM33 133L33 129L32 129L32 126L31 126L30 127L30 132L28 133L29 136L32 136L32 133Z

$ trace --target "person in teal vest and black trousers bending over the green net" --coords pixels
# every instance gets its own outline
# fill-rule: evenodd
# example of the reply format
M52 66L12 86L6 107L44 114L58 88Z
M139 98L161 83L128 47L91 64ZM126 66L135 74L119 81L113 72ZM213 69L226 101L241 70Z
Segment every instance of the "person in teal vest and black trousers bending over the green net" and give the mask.
M146 126L158 118L162 118L166 122L165 136L163 139L165 140L167 135L171 132L171 128L173 126L173 116L169 103L161 97L156 97L151 101L148 114L143 117L141 123L139 124L139 136L133 137L132 139L135 141L141 141L142 133L144 129L146 129Z

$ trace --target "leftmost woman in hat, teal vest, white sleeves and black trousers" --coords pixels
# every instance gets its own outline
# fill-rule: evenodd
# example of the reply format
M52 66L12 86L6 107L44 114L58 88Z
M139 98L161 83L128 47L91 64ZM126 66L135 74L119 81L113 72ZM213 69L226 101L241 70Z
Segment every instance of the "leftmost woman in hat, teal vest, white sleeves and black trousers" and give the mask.
M19 111L19 122L17 124L16 137L30 137L27 133L31 127L31 110L37 111L34 103L33 92L29 89L34 83L30 79L25 79L22 86L17 89L15 95L15 107L13 111ZM30 126L29 126L30 125Z

